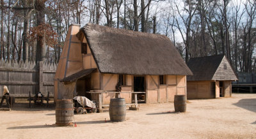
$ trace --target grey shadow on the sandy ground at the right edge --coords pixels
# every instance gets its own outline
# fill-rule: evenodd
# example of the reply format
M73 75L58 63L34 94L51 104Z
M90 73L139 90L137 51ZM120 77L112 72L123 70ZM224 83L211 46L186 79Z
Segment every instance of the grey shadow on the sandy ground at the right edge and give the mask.
M240 108L244 108L246 110L250 110L252 112L256 112L256 98L241 99L237 103L233 103L233 105L238 106Z

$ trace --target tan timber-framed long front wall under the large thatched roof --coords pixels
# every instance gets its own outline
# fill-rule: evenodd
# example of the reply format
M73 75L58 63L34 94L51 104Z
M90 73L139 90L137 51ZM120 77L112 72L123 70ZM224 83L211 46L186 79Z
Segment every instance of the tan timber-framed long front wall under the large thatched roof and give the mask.
M145 77L145 103L173 102L176 94L187 94L185 75L166 75L166 84L159 84L159 75L125 75L126 85L122 85L121 98L125 98L126 103L132 103L131 93L134 92L134 77ZM95 71L92 73L91 90L106 91L102 94L102 104L110 103L111 98L115 98L115 86L118 82L117 74L104 74ZM97 100L97 94L92 94L92 99ZM99 101L99 100L98 100Z

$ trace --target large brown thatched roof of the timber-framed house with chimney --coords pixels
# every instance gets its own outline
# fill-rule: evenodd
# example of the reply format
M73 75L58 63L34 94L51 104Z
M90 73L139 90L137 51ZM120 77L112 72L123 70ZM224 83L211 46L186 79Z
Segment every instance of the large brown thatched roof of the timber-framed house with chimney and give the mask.
M100 73L192 75L166 36L93 24L80 33L86 36Z

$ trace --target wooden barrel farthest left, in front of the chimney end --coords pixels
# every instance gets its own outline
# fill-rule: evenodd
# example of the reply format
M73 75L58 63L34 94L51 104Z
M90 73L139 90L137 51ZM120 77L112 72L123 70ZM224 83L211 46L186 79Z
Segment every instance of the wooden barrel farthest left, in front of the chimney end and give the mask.
M73 126L74 108L72 99L57 99L56 101L56 125Z

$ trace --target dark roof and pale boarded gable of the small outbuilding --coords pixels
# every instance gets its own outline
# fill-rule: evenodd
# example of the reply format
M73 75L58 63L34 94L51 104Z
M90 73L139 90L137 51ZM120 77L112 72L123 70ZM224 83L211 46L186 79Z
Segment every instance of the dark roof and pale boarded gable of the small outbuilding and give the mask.
M224 69L223 64L227 65ZM207 57L191 58L188 67L193 72L193 76L188 76L188 81L196 80L237 80L225 55L214 55Z

